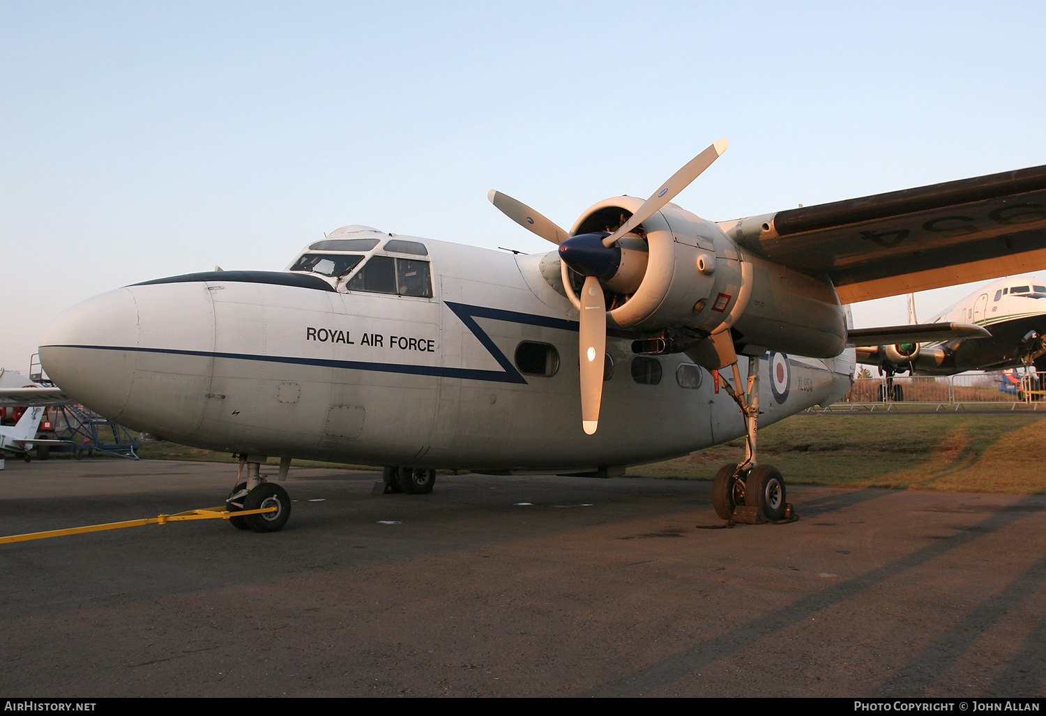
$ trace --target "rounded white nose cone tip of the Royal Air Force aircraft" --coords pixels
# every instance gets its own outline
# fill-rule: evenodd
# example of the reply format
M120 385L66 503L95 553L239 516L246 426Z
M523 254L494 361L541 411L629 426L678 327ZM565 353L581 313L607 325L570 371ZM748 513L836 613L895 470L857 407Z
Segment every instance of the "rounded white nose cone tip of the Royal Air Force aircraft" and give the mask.
M60 314L40 345L47 375L77 401L109 418L127 405L138 345L138 310L128 288L77 303Z

